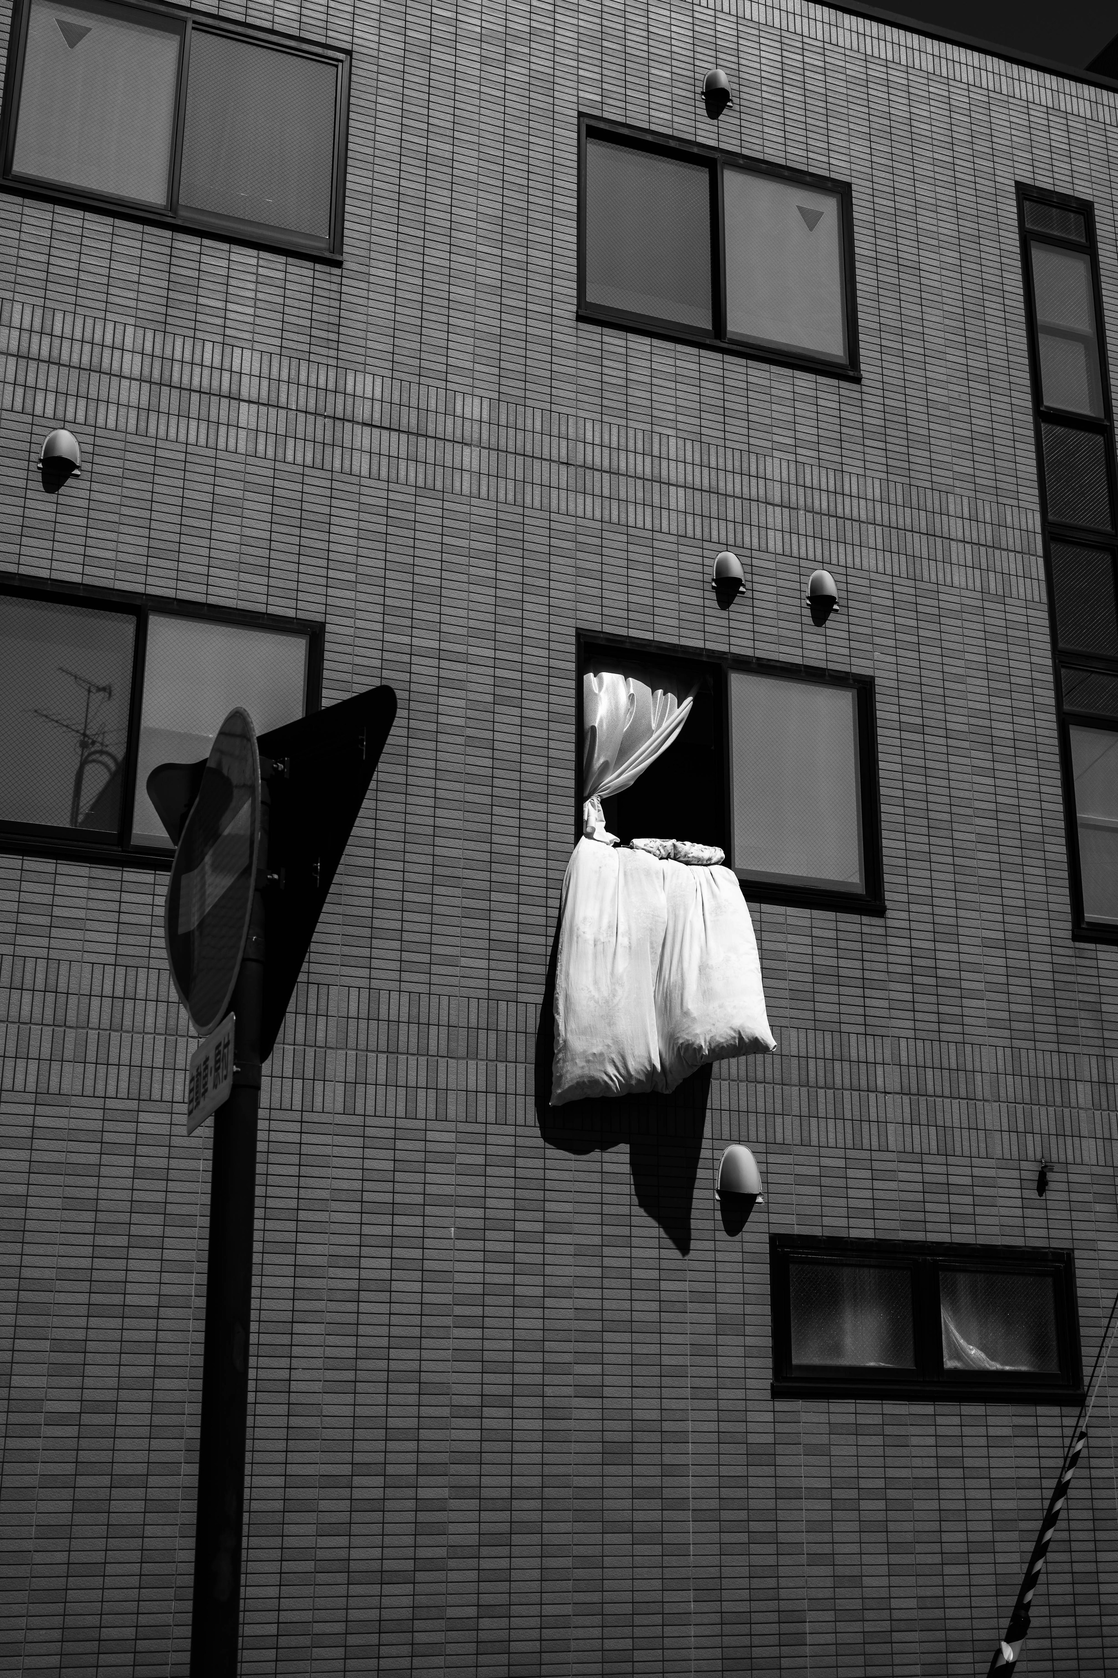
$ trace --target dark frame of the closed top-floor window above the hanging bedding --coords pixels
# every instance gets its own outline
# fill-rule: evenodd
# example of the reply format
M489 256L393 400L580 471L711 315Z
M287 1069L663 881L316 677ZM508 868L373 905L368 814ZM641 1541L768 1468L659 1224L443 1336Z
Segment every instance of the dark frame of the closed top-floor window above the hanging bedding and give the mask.
M622 141L639 151L650 151L657 156L675 158L681 163L706 163L711 175L711 310L712 331L674 324L655 315L630 314L624 309L605 309L600 304L587 302L587 141L597 138L605 141ZM724 191L722 178L727 168L744 169L753 175L766 175L783 181L793 181L811 191L833 191L841 206L841 268L843 268L843 302L846 327L846 359L833 361L810 351L796 352L774 349L743 337L726 336L726 238L724 238ZM862 383L862 364L858 356L858 297L855 287L853 257L853 191L850 181L840 181L828 175L808 175L805 169L789 169L764 158L748 158L719 146L702 146L697 141L677 139L670 134L657 134L649 129L632 128L627 122L613 122L608 117L578 116L578 297L575 317L592 326L613 326L625 332L639 332L644 337L664 339L672 344L696 344L701 349L716 349L724 356L741 356L748 361L768 361L778 367L793 367L801 373L821 373L848 383Z

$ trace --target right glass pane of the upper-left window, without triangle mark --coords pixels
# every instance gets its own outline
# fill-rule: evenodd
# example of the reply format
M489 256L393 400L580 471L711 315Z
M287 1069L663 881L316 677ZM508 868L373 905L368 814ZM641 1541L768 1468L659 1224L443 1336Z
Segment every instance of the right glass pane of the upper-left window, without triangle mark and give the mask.
M179 205L329 240L337 64L194 27Z

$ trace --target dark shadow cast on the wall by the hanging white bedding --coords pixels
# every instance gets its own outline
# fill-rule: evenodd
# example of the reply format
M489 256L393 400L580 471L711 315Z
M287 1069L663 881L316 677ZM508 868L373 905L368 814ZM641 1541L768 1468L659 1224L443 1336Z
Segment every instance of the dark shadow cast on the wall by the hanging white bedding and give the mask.
M548 1148L588 1154L629 1143L634 1193L681 1253L691 1252L694 1198L702 1131L711 1094L711 1067L701 1067L670 1096L612 1096L551 1106L555 1057L555 965L558 928L551 940L548 982L536 1029L536 1123Z

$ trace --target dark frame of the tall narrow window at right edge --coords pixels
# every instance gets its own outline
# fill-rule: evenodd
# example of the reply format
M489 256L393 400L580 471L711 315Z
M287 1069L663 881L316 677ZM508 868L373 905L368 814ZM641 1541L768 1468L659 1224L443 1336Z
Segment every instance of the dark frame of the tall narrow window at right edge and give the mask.
M1118 678L1118 656L1108 658L1100 653L1083 653L1076 648L1061 648L1059 643L1059 626L1056 621L1056 584L1053 571L1053 542L1073 542L1078 547L1090 547L1098 552L1110 555L1111 576L1116 579L1116 599L1118 599L1118 520L1115 519L1115 510L1118 508L1118 461L1115 458L1115 414L1110 391L1110 357L1106 349L1106 317L1103 312L1103 287L1098 265L1098 230L1095 223L1095 205L1086 198L1073 198L1068 193L1046 191L1043 188L1029 186L1027 183L1017 181L1017 237L1021 247L1021 274L1024 285L1024 312L1026 312L1026 341L1029 354L1029 388L1033 394L1033 428L1036 443L1036 463L1038 463L1038 490L1041 502L1041 532L1043 532L1043 549L1044 549L1044 587L1048 591L1048 616L1049 616L1049 634L1051 634L1051 653L1053 653L1053 686L1056 698L1056 725L1059 737L1059 774L1061 789L1064 802L1064 844L1068 851L1068 884L1071 893L1071 936L1081 943L1111 943L1118 945L1118 925L1106 921L1091 921L1084 913L1083 904L1083 869L1079 864L1079 829L1076 817L1076 797L1074 797L1074 769L1071 762L1071 733L1069 727L1086 728L1110 728L1118 733L1118 708L1108 718L1105 713L1078 710L1074 703L1066 703L1063 671L1066 668L1073 670L1090 670L1100 675L1110 675ZM1026 223L1026 205L1039 203L1051 205L1058 210L1069 210L1074 215L1083 216L1084 238L1073 238L1068 233L1049 233L1039 228L1031 228ZM1103 414L1101 418L1093 418L1090 414L1071 413L1063 408L1046 406L1043 399L1043 383L1041 383L1041 357L1039 357L1039 327L1036 315L1036 295L1033 285L1033 260L1031 260L1031 243L1038 242L1041 245L1054 245L1061 250L1074 252L1076 255L1086 255L1091 263L1091 285L1093 285L1093 302L1095 302L1095 331L1098 336L1098 356L1100 356L1100 384L1103 396ZM1064 520L1054 520L1049 517L1048 505L1048 482L1044 470L1044 425L1059 425L1068 430L1090 431L1101 436L1106 450L1106 480L1110 490L1110 507L1111 507L1111 529L1098 530L1090 525L1068 524Z

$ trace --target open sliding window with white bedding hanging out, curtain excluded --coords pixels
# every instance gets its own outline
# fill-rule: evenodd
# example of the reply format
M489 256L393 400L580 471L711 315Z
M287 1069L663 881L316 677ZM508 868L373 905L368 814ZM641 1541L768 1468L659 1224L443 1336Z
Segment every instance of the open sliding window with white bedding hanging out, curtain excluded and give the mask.
M721 846L754 901L885 913L872 680L629 639L580 644L580 678L627 661L650 661L694 698L674 745L602 799L610 832Z

